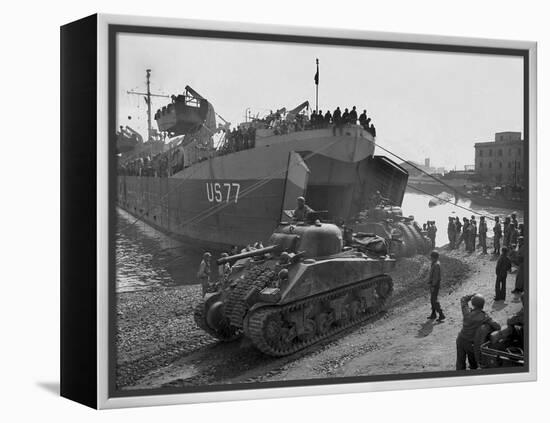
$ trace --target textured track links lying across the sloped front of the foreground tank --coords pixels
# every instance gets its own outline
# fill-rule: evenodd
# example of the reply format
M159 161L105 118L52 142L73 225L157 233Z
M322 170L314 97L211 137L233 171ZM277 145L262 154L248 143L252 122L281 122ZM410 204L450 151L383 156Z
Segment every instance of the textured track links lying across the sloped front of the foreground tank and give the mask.
M245 298L248 292L256 287L265 288L271 279L275 277L275 272L265 264L250 264L251 268L246 270L246 277L240 279L227 297L225 310L231 325L242 328L243 318L248 310Z

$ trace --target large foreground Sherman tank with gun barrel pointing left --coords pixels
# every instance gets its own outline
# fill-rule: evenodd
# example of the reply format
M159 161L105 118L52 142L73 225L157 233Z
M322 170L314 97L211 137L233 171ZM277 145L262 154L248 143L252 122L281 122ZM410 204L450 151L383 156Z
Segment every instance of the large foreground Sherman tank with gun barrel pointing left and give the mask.
M395 260L378 237L343 235L331 223L282 223L267 247L219 259L231 271L197 305L196 323L285 356L375 316L392 294Z

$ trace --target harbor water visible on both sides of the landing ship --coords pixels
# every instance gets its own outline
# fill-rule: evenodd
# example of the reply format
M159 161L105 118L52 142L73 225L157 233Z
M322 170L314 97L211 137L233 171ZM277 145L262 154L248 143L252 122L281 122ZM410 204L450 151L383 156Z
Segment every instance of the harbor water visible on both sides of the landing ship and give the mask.
M438 229L436 245L441 246L447 243L448 217L470 218L472 212L449 203L429 207L430 199L432 197L429 195L406 192L403 212L406 216L413 215L420 225L428 220L434 220ZM490 217L503 217L516 211L518 219L523 220L523 210L475 207L469 201L459 201L458 205ZM476 219L479 221L479 215L476 215ZM490 230L492 221L488 221L488 226ZM134 216L117 209L117 292L194 284L201 257L200 251L164 235Z

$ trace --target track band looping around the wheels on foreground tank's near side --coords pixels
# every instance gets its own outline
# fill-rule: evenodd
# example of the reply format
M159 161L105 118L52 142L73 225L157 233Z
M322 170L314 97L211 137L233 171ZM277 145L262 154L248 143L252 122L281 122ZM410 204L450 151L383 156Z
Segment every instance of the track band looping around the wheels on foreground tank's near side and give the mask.
M264 336L266 332L266 324L269 322L270 319L276 319L277 317L279 317L279 319L282 321L282 319L284 319L285 313L295 312L297 310L304 309L316 302L330 301L340 297L345 297L353 290L368 289L373 286L376 286L377 293L379 293L379 290L382 290L382 288L384 287L389 289L387 289L387 292L385 292L383 296L379 293L379 301L376 305L366 310L361 310L361 312L352 319L333 322L327 331L317 333L310 338L300 340L299 342L294 342L291 345L283 348L272 345ZM256 348L258 348L265 354L278 357L289 355L301 349L309 347L310 345L314 345L322 340L327 340L335 337L338 333L353 326L359 325L360 323L377 315L384 310L386 302L391 296L392 291L393 282L391 277L387 275L382 275L359 282L358 284L346 286L325 294L319 294L317 296L306 298L304 300L297 301L291 304L285 304L282 306L263 306L254 310L248 317L248 325L245 328L245 334L250 338Z

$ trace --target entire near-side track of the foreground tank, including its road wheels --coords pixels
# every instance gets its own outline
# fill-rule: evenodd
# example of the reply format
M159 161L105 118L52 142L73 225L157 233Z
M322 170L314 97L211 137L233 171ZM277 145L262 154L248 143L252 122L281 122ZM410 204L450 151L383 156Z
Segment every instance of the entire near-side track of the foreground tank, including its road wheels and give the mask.
M358 292L373 288L377 300L374 304L369 304L368 293L363 297L357 295ZM247 317L244 325L245 335L265 354L286 356L335 337L338 333L377 315L384 310L392 291L391 277L381 275L291 304L262 305L252 310ZM343 301L338 304L340 300ZM345 302L346 300L349 301ZM339 312L333 305L340 308ZM296 336L295 322L287 320L287 317L307 313L307 308L315 309L315 306L320 312L314 316L308 315L304 322L304 326L308 326L308 335Z

